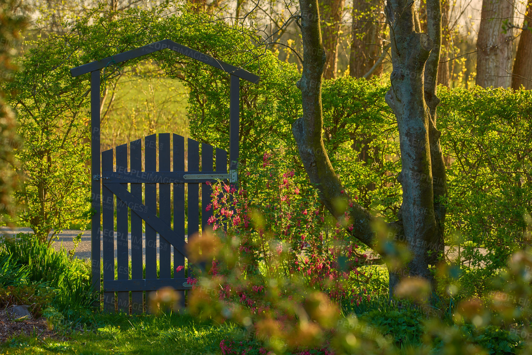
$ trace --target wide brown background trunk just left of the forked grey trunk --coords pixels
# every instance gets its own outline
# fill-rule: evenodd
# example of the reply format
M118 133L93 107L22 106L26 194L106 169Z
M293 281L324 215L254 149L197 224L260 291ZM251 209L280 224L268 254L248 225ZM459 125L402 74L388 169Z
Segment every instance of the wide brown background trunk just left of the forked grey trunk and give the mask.
M349 75L360 78L375 65L383 52L383 5L378 0L353 0L352 18ZM382 73L383 66L379 65L372 75Z

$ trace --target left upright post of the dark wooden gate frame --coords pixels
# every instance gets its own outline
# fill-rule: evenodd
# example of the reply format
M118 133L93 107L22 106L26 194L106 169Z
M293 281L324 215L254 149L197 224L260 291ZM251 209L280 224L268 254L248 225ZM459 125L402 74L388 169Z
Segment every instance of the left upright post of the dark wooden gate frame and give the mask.
M94 291L100 290L100 70L90 72L90 259L92 261ZM99 300L98 300L99 307Z

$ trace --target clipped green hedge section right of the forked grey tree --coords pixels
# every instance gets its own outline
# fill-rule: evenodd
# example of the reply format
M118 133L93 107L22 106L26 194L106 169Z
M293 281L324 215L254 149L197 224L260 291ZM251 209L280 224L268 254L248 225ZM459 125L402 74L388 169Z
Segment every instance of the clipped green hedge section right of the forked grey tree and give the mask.
M439 87L438 96L448 163L446 239L461 245L463 270L477 269L462 274L463 292L481 294L530 243L523 232L532 212L532 92Z

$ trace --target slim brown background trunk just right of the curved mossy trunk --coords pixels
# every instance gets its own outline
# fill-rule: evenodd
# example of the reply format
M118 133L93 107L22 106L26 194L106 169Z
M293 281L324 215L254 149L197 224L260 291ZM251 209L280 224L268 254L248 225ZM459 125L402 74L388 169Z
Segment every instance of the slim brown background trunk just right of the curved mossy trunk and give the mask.
M338 45L342 29L345 0L320 0L321 30L326 62L323 77L336 78L338 72Z

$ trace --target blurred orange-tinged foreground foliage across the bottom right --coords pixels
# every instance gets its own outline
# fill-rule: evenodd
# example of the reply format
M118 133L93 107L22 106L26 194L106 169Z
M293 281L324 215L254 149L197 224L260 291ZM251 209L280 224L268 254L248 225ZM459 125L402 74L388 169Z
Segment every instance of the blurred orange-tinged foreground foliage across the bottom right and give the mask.
M216 196L220 191L214 188ZM391 300L377 292L359 298L352 287L369 289L371 282L356 277L356 267L347 266L343 276L323 280L320 267L305 263L307 252L316 252L312 241L303 250L293 250L286 235L266 232L268 216L248 210L243 221L240 207L247 201L242 195L234 192L233 213L225 204L231 199L220 200L214 216L227 230L214 226L213 233L193 237L187 245L194 263L189 265L194 270L189 274L194 284L189 310L201 319L240 326L220 344L222 354L473 355L532 350L531 249L514 253L497 276L486 278L489 287L480 296L466 296L458 287L453 289L457 295L431 293L426 280L404 278ZM349 245L335 238L322 242L326 254L336 254L323 269L342 272L342 257L353 259ZM446 268L440 266L440 275ZM439 282L446 278L440 276Z

